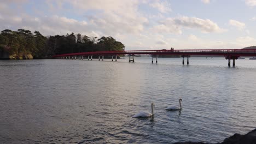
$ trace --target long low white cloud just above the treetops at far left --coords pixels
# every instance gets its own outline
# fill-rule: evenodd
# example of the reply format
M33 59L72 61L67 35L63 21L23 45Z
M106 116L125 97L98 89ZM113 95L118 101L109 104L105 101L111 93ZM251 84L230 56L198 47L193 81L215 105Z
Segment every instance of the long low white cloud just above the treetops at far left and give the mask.
M30 31L39 31L44 35L53 35L53 34L66 34L66 33L79 33L79 32L87 32L86 26L88 25L86 21L77 21L74 19L68 19L67 17L60 17L57 15L54 16L45 16L45 17L31 17L31 16L23 16L23 17L4 17L2 20L4 25L1 25L1 29L5 29L6 27L15 27L18 28L26 28ZM13 29L14 31L16 29Z

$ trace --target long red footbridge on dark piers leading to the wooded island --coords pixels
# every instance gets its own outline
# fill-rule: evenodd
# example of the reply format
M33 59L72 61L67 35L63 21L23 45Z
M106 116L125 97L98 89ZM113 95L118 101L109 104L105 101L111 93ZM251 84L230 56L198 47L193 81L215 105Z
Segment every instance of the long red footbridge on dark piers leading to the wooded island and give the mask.
M183 57L182 63L184 64L184 57L187 57L187 64L189 64L189 57L192 55L197 56L223 56L228 59L228 65L230 67L230 59L233 60L233 66L235 66L235 59L241 56L253 56L256 57L256 49L218 49L218 50L136 50L136 51L97 51L97 52L79 52L79 53L66 53L63 55L55 55L54 58L65 58L65 59L84 59L88 57L88 60L92 60L92 56L98 56L98 61L102 56L102 61L104 56L115 56L115 61L117 61L118 55L129 55L129 62L134 62L134 55L152 55L156 58L156 63L158 63L159 55L179 55Z

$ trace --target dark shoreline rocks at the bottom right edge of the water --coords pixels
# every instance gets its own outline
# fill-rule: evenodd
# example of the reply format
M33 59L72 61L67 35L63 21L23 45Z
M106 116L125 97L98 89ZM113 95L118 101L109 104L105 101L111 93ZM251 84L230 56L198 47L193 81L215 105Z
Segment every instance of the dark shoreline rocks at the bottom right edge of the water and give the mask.
M211 144L204 142L176 142L173 144ZM256 129L250 131L245 135L234 134L226 138L223 142L216 144L256 144Z

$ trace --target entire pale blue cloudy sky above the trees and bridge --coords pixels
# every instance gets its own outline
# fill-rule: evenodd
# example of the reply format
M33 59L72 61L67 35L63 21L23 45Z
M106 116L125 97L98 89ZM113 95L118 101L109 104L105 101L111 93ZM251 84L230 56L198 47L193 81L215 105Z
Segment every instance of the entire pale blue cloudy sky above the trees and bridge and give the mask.
M256 45L256 0L0 0L0 31L113 37L125 50Z

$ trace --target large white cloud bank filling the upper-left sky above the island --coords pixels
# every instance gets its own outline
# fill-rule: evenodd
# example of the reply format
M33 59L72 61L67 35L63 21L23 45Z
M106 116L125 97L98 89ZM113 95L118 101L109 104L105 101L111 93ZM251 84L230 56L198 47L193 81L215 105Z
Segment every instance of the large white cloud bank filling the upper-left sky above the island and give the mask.
M16 0L13 0L15 2ZM24 1L26 2L26 1ZM1 23L0 28L31 28L31 31L37 30L45 35L66 34L66 33L83 33L86 35L93 34L99 36L120 35L120 34L140 34L144 31L148 19L138 12L138 0L60 0L58 5L68 3L81 15L88 14L88 10L94 13L85 15L85 20L70 19L65 16L41 16L33 17L19 11L19 14L8 10L9 5L0 3ZM50 8L49 3L54 1L46 1L45 4ZM61 10L61 6L60 9ZM63 10L63 9L62 9ZM71 9L65 9L68 11ZM8 13L7 13L8 12ZM21 13L20 13L21 12ZM51 11L51 13L57 13ZM4 20L3 20L4 19ZM89 35L91 36L91 35Z

